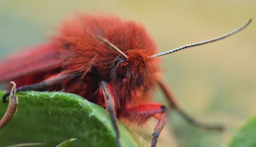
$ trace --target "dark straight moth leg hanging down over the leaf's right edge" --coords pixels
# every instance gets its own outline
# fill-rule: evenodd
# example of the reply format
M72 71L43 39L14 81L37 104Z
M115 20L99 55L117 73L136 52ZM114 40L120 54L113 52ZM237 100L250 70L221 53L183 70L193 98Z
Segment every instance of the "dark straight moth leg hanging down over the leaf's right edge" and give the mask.
M108 87L108 84L104 81L101 82L101 90L105 99L106 103L106 110L110 113L111 121L113 123L115 132L116 132L116 147L120 146L119 141L119 130L117 127L117 121L116 121L116 115L115 115L115 104L113 96L110 92L110 89Z

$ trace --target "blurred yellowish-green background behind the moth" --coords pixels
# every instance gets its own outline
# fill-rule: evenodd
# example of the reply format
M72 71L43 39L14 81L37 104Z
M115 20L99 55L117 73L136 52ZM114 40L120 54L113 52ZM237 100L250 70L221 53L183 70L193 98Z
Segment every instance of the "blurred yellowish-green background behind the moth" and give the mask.
M0 1L0 58L47 42L57 26L77 12L113 14L144 24L159 51L220 36L256 19L256 1ZM256 22L228 39L162 57L163 79L180 106L198 120L218 122L223 133L188 125L177 113L159 146L226 146L256 114ZM156 91L156 101L166 105ZM150 138L156 121L138 133ZM150 128L150 129L148 129Z

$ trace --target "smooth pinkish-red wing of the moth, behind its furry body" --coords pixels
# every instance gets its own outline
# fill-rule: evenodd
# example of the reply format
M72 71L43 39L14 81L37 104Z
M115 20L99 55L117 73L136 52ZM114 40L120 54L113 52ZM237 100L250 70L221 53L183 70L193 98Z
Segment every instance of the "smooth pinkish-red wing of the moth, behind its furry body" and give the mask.
M61 66L60 51L53 43L30 47L0 63L0 82Z

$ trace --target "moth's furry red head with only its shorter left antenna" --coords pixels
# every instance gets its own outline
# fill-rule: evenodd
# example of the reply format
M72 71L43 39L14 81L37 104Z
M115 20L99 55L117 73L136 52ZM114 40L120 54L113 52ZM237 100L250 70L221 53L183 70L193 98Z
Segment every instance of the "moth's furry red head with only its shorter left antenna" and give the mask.
M98 39L111 46L117 53L110 72L110 79L118 83L129 84L129 87L139 88L152 74L151 65L145 49L133 49L122 52L105 38Z

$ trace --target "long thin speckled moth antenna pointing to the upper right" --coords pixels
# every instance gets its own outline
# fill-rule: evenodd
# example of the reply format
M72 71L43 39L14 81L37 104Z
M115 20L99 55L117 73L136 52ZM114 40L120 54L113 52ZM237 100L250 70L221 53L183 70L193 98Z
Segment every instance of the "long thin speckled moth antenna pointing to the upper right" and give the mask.
M240 31L242 31L243 29L245 29L250 23L251 23L252 19L250 19L246 24L244 24L244 26L236 29L236 30L233 30L223 36L220 36L220 37L216 37L216 38L213 38L213 39L209 39L209 40L206 40L206 41L201 41L201 42L197 42L197 43L192 43L192 44L187 44L187 45L183 45L181 47L178 47L178 48L175 48L174 50L169 50L169 51L166 51L166 52L162 52L162 53L158 53L156 55L152 55L148 58L156 58L156 57L160 57L160 56L164 56L164 55L167 55L167 54L172 54L174 52L178 52L180 50L183 50L185 48L190 48L190 47L194 47L194 46L199 46L199 45L203 45L203 44L207 44L207 43L211 43L211 42L214 42L214 41L218 41L218 40L221 40L221 39L224 39L226 37L229 37L233 34L236 34Z

